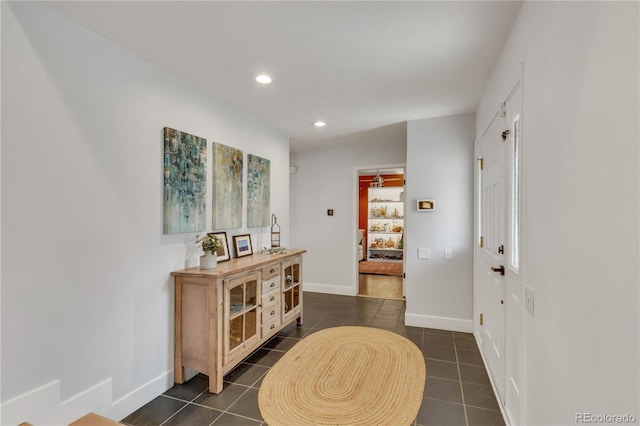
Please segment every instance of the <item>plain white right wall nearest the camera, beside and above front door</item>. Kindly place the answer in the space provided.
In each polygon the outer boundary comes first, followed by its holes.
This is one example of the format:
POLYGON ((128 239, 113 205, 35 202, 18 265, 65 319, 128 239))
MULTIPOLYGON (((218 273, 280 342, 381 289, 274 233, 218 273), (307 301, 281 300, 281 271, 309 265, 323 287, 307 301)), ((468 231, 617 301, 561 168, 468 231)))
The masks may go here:
POLYGON ((524 63, 522 424, 640 421, 638 17, 525 2, 477 113, 482 132, 524 63))

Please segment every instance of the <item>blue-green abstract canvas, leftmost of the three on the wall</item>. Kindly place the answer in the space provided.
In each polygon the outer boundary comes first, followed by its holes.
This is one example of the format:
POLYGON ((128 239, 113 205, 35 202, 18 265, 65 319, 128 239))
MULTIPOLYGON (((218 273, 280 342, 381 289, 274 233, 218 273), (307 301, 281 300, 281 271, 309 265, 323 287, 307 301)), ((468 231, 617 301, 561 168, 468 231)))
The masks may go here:
POLYGON ((164 128, 165 234, 205 229, 207 140, 164 128))

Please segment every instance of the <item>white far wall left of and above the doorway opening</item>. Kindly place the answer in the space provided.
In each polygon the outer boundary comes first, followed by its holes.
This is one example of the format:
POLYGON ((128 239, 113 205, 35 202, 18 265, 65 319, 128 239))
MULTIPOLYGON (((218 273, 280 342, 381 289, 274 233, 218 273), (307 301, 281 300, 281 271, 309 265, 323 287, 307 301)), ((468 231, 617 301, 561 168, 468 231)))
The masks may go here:
POLYGON ((291 165, 297 172, 291 175, 290 232, 292 246, 307 250, 306 290, 355 295, 358 192, 354 170, 404 164, 406 123, 355 134, 340 143, 347 146, 292 153, 291 165), (327 216, 327 209, 334 209, 334 216, 327 216))

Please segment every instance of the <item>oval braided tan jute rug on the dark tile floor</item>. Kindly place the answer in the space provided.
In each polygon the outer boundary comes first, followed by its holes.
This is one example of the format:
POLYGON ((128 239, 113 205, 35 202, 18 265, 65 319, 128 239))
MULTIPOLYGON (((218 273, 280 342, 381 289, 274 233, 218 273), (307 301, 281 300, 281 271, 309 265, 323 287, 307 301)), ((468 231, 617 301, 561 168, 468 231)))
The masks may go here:
POLYGON ((269 426, 410 425, 426 377, 410 340, 369 327, 302 339, 269 370, 258 393, 269 426))

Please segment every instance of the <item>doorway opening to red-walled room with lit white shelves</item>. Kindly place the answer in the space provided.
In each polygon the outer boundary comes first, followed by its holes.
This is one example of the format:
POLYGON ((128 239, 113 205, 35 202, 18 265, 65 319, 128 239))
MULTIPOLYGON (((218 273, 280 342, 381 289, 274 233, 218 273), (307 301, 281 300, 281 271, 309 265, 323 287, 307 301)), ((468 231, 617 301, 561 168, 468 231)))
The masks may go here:
POLYGON ((404 300, 404 168, 358 171, 358 296, 404 300))

